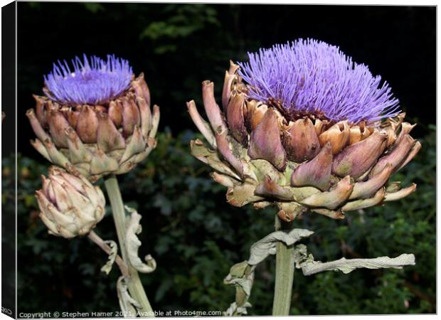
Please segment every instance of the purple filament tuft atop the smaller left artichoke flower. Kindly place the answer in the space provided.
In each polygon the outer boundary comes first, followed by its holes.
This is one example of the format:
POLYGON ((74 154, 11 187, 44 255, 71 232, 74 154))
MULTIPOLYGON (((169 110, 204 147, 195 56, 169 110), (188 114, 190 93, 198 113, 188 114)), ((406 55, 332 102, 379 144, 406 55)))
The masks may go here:
POLYGON ((44 76, 46 95, 63 105, 102 105, 127 90, 132 79, 132 67, 124 59, 107 55, 107 60, 92 55, 83 61, 75 57, 73 70, 58 60, 53 70, 44 76))

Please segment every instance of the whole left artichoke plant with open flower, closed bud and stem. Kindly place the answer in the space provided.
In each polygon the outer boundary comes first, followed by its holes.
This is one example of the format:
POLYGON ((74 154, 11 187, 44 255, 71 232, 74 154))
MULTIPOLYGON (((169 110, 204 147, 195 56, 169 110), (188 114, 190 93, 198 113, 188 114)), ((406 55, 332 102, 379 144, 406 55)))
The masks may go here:
POLYGON ((159 107, 151 112, 144 75, 134 78, 127 60, 84 55, 72 65, 73 70, 66 61, 53 65, 44 77, 45 96, 34 95, 36 108, 26 112, 37 136, 31 144, 60 167, 53 167, 49 178, 43 177, 43 188, 36 193, 40 217, 49 233, 64 238, 87 235, 102 248, 109 255, 103 272, 109 273, 117 263, 124 316, 138 311, 151 315, 138 271, 152 272, 156 262, 148 255, 145 264, 137 255, 141 216, 127 217, 116 175, 132 170, 156 146, 159 107), (103 176, 119 247, 92 230, 105 213, 105 199, 91 183, 103 176))

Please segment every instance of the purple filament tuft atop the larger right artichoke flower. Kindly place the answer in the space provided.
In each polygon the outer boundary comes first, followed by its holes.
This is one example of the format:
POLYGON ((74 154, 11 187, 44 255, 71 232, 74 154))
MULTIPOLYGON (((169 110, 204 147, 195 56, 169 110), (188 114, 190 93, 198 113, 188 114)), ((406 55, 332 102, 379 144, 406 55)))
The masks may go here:
POLYGON ((354 63, 336 46, 299 39, 248 53, 238 63, 248 96, 277 101, 287 113, 323 114, 334 120, 374 122, 400 112, 388 83, 354 63))

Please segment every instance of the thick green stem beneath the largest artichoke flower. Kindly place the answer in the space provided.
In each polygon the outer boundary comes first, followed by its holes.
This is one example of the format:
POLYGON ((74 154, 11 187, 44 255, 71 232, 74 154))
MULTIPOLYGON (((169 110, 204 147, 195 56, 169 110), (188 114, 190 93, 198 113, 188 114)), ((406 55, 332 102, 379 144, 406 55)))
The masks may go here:
MULTIPOLYGON (((276 230, 287 230, 290 224, 284 223, 276 215, 276 230)), ((292 282, 294 279, 294 245, 285 245, 282 241, 276 245, 276 276, 273 316, 288 316, 291 306, 292 282)))

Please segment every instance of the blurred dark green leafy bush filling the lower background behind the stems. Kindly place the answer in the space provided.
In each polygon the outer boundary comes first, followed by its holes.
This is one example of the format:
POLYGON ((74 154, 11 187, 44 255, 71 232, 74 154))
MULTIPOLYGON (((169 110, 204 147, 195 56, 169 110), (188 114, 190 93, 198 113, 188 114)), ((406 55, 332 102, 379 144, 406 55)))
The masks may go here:
MULTIPOLYGON (((402 201, 350 213, 345 220, 307 213, 296 227, 314 230, 304 241, 317 260, 414 253, 403 270, 356 270, 294 275, 291 314, 434 313, 435 309, 435 127, 427 129, 420 154, 392 181, 418 183, 402 201)), ((157 148, 130 174, 119 176, 124 201, 139 210, 140 255, 151 253, 158 268, 141 275, 154 309, 225 310, 233 287, 223 284, 230 266, 248 258, 253 242, 273 230, 274 208, 233 208, 225 188, 189 153, 195 134, 159 134, 157 148)), ((46 163, 18 158, 18 312, 116 311, 119 270, 100 272, 107 256, 87 238, 47 234, 38 218, 34 191, 46 163)), ((4 159, 2 186, 13 184, 14 159, 4 159)), ((102 182, 101 182, 102 183, 102 182)), ((104 186, 102 186, 104 187, 104 186)), ((4 214, 13 214, 14 195, 2 194, 4 214)), ((116 239, 110 208, 95 229, 116 239)), ((257 267, 249 309, 271 313, 274 257, 257 267)))

